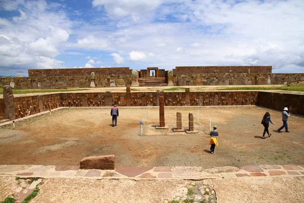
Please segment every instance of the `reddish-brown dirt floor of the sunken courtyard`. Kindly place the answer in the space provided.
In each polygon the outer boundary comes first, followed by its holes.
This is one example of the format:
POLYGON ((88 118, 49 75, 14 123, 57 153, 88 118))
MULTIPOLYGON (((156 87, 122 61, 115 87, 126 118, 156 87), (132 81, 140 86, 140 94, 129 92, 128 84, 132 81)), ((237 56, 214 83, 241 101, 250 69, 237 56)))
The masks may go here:
POLYGON ((197 109, 218 126, 215 154, 202 131, 139 136, 139 121, 147 111, 149 120, 157 121, 158 108, 119 108, 116 127, 110 108, 71 109, 17 123, 15 130, 0 128, 0 164, 79 165, 84 157, 108 154, 116 155, 117 166, 304 164, 303 117, 291 115, 290 132, 278 133, 281 112, 260 107, 166 107, 165 115, 170 120, 177 111, 197 109), (260 121, 266 111, 275 125, 270 125, 272 137, 263 140, 260 121))

